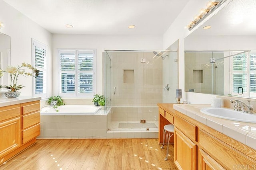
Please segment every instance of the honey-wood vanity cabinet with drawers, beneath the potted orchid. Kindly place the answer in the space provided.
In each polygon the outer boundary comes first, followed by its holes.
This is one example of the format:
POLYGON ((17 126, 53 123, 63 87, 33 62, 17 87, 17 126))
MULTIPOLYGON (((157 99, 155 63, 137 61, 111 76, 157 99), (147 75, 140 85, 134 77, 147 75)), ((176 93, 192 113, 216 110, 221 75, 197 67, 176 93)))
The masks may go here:
POLYGON ((0 107, 0 165, 36 142, 40 101, 0 107))

